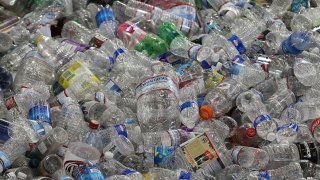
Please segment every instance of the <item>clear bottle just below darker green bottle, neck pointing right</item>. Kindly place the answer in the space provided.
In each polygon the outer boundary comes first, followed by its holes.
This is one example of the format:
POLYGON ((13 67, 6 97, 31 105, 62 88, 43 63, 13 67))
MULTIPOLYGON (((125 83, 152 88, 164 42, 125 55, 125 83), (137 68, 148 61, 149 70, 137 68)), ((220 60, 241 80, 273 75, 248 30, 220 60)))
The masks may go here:
POLYGON ((170 51, 180 57, 197 61, 208 61, 210 64, 219 60, 219 55, 208 47, 192 43, 184 37, 176 37, 170 45, 170 51))

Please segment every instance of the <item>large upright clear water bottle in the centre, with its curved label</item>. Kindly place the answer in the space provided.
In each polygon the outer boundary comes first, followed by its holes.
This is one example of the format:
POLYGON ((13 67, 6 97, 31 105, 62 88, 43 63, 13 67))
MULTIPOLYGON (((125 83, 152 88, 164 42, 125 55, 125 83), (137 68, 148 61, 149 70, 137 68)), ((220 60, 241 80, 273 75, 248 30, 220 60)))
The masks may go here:
POLYGON ((179 127, 177 82, 169 74, 145 79, 136 88, 137 115, 142 132, 179 127))

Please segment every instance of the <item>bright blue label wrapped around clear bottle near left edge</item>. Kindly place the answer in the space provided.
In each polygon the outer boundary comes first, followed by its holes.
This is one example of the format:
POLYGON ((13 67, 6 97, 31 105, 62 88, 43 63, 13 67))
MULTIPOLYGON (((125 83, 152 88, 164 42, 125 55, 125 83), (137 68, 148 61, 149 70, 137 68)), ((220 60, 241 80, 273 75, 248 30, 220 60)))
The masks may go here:
POLYGON ((50 107, 47 103, 35 105, 29 110, 29 119, 52 124, 50 107))

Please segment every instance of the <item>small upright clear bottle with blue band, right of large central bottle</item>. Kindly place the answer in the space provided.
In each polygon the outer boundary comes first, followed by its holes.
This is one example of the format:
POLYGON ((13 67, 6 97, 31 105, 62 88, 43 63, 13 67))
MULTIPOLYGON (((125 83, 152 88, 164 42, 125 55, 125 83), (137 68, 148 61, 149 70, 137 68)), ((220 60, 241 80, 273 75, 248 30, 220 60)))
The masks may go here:
POLYGON ((193 128, 199 120, 197 94, 192 85, 180 89, 180 119, 182 124, 193 128))

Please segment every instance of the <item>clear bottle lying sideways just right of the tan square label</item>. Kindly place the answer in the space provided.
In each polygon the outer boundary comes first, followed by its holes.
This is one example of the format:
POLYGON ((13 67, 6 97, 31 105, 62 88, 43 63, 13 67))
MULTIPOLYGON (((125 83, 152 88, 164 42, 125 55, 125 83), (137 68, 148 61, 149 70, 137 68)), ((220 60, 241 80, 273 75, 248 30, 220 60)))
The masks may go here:
POLYGON ((265 169, 269 163, 269 155, 259 148, 236 146, 232 149, 234 163, 249 169, 265 169))

